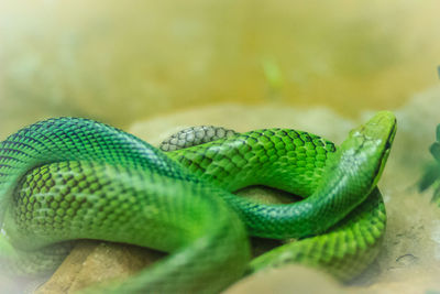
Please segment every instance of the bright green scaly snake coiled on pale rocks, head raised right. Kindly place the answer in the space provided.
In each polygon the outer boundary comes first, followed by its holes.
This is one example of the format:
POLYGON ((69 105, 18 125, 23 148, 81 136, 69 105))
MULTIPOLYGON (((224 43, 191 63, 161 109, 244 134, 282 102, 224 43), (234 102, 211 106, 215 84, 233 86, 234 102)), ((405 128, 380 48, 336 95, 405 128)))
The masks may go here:
POLYGON ((0 144, 0 271, 48 274, 73 240, 99 239, 169 254, 85 292, 218 293, 290 262, 350 280, 375 259, 385 231, 376 184, 395 132, 394 115, 381 111, 338 151, 311 133, 265 129, 165 153, 92 120, 34 123, 0 144), (256 184, 304 199, 232 194, 256 184), (249 235, 298 240, 250 261, 249 235))

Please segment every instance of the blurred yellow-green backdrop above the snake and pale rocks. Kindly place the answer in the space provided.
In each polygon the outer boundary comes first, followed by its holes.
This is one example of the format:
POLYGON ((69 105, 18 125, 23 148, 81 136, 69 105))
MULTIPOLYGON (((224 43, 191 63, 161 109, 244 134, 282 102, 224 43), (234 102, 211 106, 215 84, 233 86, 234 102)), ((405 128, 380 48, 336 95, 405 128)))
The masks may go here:
POLYGON ((0 1, 0 139, 223 102, 354 118, 439 84, 440 2, 0 1))

